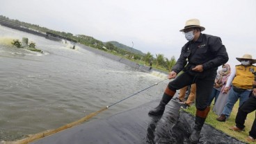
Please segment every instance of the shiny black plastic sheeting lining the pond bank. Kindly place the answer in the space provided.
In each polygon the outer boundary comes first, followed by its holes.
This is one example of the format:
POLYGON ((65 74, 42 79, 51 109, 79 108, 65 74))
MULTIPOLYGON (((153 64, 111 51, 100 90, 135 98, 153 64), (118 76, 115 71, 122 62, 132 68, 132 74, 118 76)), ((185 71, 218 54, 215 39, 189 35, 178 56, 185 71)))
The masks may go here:
MULTIPOLYGON (((194 116, 180 111, 180 104, 170 101, 163 116, 149 116, 148 111, 159 104, 159 100, 148 102, 134 109, 115 114, 106 119, 66 129, 63 132, 41 138, 33 144, 186 144, 194 125, 194 116)), ((111 107, 111 109, 118 106, 111 107)), ((209 125, 202 127, 199 143, 243 143, 223 134, 209 125)))

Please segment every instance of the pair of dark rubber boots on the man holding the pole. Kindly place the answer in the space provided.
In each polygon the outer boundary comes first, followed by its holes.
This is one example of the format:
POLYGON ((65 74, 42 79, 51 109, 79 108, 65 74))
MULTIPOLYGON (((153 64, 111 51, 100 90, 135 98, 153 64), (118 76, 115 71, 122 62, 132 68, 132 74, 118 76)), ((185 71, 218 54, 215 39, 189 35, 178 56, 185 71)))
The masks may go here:
MULTIPOLYGON (((163 94, 163 98, 161 99, 159 105, 156 108, 150 110, 148 114, 154 115, 154 116, 162 115, 164 109, 166 109, 166 105, 172 98, 173 97, 171 96, 163 94)), ((191 143, 198 143, 200 138, 200 132, 201 132, 202 126, 205 123, 205 119, 206 118, 200 118, 199 116, 195 116, 195 126, 193 128, 191 136, 189 137, 189 140, 191 141, 191 143)))

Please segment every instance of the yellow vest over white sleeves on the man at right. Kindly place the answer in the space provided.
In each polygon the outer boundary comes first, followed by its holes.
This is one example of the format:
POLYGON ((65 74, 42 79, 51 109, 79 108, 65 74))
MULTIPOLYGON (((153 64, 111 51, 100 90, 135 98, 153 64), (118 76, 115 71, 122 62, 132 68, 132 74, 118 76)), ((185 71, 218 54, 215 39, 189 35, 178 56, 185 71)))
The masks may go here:
POLYGON ((236 75, 232 84, 234 87, 241 89, 253 89, 254 75, 253 72, 256 71, 256 66, 236 66, 236 75))

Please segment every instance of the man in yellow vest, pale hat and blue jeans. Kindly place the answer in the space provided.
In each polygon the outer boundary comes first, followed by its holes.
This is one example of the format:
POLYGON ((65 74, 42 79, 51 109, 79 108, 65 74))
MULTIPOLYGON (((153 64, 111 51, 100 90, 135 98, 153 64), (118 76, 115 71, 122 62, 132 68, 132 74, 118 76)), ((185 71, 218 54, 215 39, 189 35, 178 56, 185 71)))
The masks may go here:
POLYGON ((254 74, 256 71, 256 60, 253 59, 252 55, 245 54, 243 57, 237 57, 237 60, 241 64, 237 65, 232 69, 230 77, 227 79, 227 84, 225 86, 224 92, 230 90, 230 94, 227 99, 227 103, 223 109, 221 116, 216 118, 216 120, 225 122, 229 118, 230 113, 234 107, 234 104, 239 99, 239 107, 248 100, 250 91, 253 89, 254 74), (232 88, 230 85, 232 83, 232 88))

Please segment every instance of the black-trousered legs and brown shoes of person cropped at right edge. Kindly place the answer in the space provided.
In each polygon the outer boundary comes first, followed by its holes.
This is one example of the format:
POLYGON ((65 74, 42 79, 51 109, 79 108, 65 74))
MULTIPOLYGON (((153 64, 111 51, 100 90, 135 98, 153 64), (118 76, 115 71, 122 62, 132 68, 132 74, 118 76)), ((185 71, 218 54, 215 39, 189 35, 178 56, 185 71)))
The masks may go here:
MULTIPOLYGON (((256 84, 256 82, 255 82, 256 84)), ((241 132, 244 131, 244 123, 246 122, 246 116, 256 110, 256 89, 253 89, 252 96, 246 102, 239 107, 236 116, 236 125, 230 127, 231 130, 241 132)), ((255 112, 256 114, 256 112, 255 112)), ((254 119, 253 125, 250 129, 249 136, 246 138, 248 142, 255 142, 256 141, 256 119, 254 119)))

